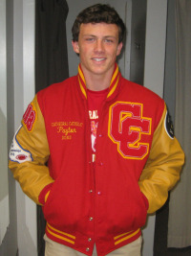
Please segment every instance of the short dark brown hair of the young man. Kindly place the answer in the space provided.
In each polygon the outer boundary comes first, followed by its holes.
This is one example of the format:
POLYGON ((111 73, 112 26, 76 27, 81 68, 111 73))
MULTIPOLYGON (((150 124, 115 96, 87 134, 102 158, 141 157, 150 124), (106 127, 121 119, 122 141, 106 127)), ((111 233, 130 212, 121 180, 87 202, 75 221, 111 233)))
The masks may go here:
POLYGON ((77 15, 72 28, 73 41, 78 41, 80 25, 82 23, 116 24, 118 27, 118 43, 123 41, 126 32, 125 25, 117 11, 109 5, 96 4, 88 7, 77 15))

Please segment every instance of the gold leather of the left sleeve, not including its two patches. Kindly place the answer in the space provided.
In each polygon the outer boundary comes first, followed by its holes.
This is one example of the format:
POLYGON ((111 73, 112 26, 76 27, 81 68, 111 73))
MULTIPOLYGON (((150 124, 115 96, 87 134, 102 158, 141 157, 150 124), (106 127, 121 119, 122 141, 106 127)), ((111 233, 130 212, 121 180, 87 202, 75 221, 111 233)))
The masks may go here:
POLYGON ((50 151, 44 119, 36 96, 32 101, 32 108, 35 113, 32 129, 29 130, 22 120, 22 127, 18 130, 14 142, 17 145, 22 145, 24 151, 29 151, 32 154, 32 160, 26 160, 20 164, 10 160, 9 167, 24 193, 34 202, 40 204, 38 196, 45 186, 53 182, 53 178, 46 166, 50 151))

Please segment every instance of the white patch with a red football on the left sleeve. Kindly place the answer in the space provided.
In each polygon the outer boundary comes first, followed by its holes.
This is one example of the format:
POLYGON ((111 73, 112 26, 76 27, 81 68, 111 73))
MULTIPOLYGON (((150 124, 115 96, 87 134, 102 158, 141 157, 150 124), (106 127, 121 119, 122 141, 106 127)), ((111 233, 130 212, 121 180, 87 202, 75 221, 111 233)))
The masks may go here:
POLYGON ((11 150, 10 150, 11 161, 18 162, 19 164, 24 163, 26 161, 33 160, 32 153, 30 151, 25 151, 16 139, 16 135, 19 132, 20 128, 22 128, 22 126, 20 126, 16 131, 11 143, 11 150))

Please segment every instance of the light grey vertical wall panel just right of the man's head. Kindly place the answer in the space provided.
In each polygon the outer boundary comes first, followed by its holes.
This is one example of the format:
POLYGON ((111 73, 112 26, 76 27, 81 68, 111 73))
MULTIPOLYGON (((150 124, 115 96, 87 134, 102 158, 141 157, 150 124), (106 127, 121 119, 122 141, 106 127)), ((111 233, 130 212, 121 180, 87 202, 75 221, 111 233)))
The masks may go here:
MULTIPOLYGON (((163 96, 167 0, 147 0, 144 86, 163 96)), ((143 255, 153 255, 155 215, 143 230, 143 255)))

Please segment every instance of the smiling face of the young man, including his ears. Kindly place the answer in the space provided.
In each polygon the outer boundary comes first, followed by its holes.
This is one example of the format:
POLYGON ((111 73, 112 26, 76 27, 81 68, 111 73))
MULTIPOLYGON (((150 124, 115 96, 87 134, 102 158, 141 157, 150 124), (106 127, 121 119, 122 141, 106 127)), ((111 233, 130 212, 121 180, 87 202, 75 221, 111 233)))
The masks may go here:
POLYGON ((116 24, 81 24, 78 42, 73 42, 74 52, 79 54, 85 77, 112 75, 122 43, 118 44, 116 24))

